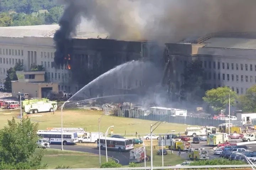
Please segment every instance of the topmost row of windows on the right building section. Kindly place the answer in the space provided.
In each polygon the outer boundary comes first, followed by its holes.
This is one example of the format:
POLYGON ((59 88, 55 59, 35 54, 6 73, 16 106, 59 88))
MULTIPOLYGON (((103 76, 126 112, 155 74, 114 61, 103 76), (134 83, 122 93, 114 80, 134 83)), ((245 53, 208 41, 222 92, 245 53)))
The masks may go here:
MULTIPOLYGON (((213 65, 213 68, 216 69, 216 62, 211 62, 209 61, 208 64, 207 64, 207 61, 204 61, 204 68, 212 68, 212 65, 213 65)), ((240 70, 244 70, 245 68, 245 71, 256 71, 256 64, 254 64, 254 68, 253 68, 253 64, 238 64, 238 63, 222 63, 222 69, 231 69, 231 70, 239 70, 239 67, 240 67, 240 70), (231 67, 231 68, 230 68, 231 67)), ((217 68, 220 69, 220 62, 217 63, 217 68)))

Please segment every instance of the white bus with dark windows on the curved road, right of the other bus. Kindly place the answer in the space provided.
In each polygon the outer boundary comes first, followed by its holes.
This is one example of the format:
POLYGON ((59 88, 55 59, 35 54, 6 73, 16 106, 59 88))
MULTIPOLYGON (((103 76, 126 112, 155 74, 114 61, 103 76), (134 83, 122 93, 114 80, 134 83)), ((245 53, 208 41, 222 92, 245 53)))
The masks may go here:
MULTIPOLYGON (((106 140, 107 140, 107 148, 118 149, 119 152, 129 151, 133 149, 132 139, 106 137, 106 140)), ((97 139, 97 147, 99 147, 98 139, 97 139)), ((101 149, 106 148, 105 137, 100 138, 100 148, 101 149)))

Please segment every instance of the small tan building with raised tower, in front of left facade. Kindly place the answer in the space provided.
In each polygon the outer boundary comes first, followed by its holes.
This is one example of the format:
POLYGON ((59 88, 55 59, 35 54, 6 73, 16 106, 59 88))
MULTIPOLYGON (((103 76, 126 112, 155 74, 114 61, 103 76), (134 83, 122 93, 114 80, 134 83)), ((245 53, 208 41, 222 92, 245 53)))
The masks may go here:
POLYGON ((17 71, 18 80, 12 81, 12 97, 18 92, 28 93, 29 97, 46 98, 49 92, 58 91, 59 83, 47 82, 43 71, 17 71))

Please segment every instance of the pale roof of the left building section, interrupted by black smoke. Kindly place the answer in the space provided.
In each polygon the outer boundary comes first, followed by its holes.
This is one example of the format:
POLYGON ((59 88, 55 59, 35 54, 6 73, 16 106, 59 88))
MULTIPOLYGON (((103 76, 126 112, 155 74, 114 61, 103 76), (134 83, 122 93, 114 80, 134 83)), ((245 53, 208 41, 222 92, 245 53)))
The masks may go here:
MULTIPOLYGON (((24 36, 45 36, 53 37, 54 33, 59 29, 58 24, 38 25, 38 26, 17 26, 17 27, 0 27, 0 37, 23 38, 24 36)), ((86 32, 85 30, 77 30, 75 38, 102 38, 108 37, 107 33, 86 32)))

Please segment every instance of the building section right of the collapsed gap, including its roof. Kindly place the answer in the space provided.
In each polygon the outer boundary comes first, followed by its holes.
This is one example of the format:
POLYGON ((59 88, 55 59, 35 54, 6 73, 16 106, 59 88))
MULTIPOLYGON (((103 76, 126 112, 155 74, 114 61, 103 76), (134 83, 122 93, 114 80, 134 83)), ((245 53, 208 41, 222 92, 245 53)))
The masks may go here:
POLYGON ((167 43, 163 83, 173 99, 180 96, 185 68, 198 60, 209 88, 228 86, 237 94, 256 83, 256 34, 215 33, 180 43, 167 43))

